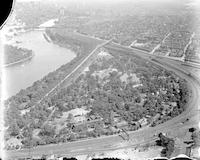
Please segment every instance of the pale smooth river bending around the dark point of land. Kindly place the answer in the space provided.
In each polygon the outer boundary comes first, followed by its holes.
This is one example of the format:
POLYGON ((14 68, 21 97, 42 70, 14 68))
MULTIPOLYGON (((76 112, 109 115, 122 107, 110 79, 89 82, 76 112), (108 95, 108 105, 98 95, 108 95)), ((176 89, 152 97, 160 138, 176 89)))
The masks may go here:
POLYGON ((21 43, 13 45, 33 50, 34 57, 22 64, 4 68, 6 75, 5 99, 15 95, 21 89, 31 86, 33 82, 75 58, 74 52, 47 42, 43 33, 44 31, 34 30, 20 33, 14 37, 14 41, 21 43))

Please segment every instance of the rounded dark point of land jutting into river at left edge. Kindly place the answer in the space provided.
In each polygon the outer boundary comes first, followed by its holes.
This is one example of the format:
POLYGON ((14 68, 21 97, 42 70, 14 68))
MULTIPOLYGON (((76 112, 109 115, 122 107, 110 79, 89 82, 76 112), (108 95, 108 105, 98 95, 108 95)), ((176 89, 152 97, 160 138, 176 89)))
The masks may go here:
POLYGON ((5 63, 2 65, 3 67, 9 67, 16 64, 20 64, 32 59, 34 53, 32 50, 28 50, 25 48, 18 48, 12 45, 5 45, 4 57, 5 63))

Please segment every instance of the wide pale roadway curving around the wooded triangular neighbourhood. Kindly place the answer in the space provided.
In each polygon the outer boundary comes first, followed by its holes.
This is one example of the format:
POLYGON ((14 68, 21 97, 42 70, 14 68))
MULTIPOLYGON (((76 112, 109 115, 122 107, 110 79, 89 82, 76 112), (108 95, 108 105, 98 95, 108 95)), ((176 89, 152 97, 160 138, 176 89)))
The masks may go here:
POLYGON ((157 65, 163 66, 168 70, 174 71, 177 75, 186 79, 192 90, 192 95, 188 102, 188 107, 186 111, 181 115, 173 118, 172 120, 169 120, 156 127, 150 127, 129 132, 130 141, 124 141, 120 136, 113 135, 78 142, 39 146, 30 150, 24 149, 19 151, 8 151, 8 157, 12 159, 13 157, 29 157, 30 155, 39 156, 43 154, 59 154, 74 156, 144 144, 154 140, 155 133, 169 131, 175 132, 177 128, 180 129, 185 127, 185 125, 182 125, 181 122, 184 121, 186 118, 194 117, 199 113, 196 111, 198 110, 198 104, 200 104, 200 80, 195 75, 190 76, 188 74, 189 72, 186 70, 187 66, 183 67, 181 65, 182 62, 162 58, 155 55, 149 55, 145 51, 140 51, 138 49, 129 49, 127 47, 122 47, 116 44, 108 44, 105 46, 105 48, 109 52, 113 53, 123 52, 123 54, 129 54, 130 56, 141 56, 144 59, 156 63, 157 65))

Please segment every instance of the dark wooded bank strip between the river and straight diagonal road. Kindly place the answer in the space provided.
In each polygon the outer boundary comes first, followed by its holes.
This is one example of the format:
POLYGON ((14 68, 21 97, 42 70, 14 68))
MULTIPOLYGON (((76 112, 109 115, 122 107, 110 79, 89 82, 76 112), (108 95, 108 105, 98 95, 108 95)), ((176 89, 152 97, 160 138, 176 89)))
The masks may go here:
MULTIPOLYGON (((73 34, 73 33, 72 33, 73 34)), ((27 97, 29 94, 32 94, 30 98, 28 98, 24 103, 26 105, 18 104, 20 109, 25 109, 33 106, 38 100, 40 100, 46 93, 48 93, 56 84, 58 84, 64 77, 66 77, 71 70, 73 70, 79 63, 88 56, 88 54, 96 47, 99 41, 95 41, 92 39, 91 41, 84 41, 84 39, 78 39, 77 41, 69 34, 68 36, 63 34, 47 34, 47 36, 51 39, 51 43, 48 44, 55 44, 57 46, 62 46, 63 48, 67 48, 76 54, 71 61, 66 61, 65 64, 58 67, 57 69, 49 72, 41 79, 34 81, 34 83, 26 88, 21 89, 17 94, 7 99, 7 101, 15 101, 15 97, 27 97), (70 43, 71 39, 73 39, 73 44, 70 43), (69 44, 70 43, 70 44, 69 44), (22 107, 23 106, 23 107, 22 107), (22 108, 21 108, 22 107, 22 108)), ((41 34, 43 37, 44 35, 41 34)), ((37 57, 35 58, 37 59, 37 57)), ((55 57, 54 57, 55 59, 55 57)), ((35 61, 35 60, 34 60, 35 61)), ((28 66, 27 66, 28 67, 28 66)), ((27 68, 26 67, 26 68, 27 68)), ((24 68, 24 69, 26 69, 24 68)), ((19 71, 21 72, 21 69, 19 71)), ((37 71, 38 72, 38 71, 37 71)), ((12 74, 13 75, 13 74, 12 74)), ((14 77, 16 78, 16 77, 14 77)), ((15 102, 14 102, 15 103, 15 102)), ((18 102, 17 102, 18 103, 18 102)))

